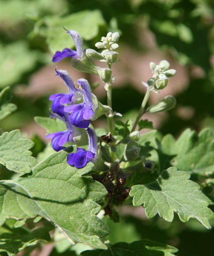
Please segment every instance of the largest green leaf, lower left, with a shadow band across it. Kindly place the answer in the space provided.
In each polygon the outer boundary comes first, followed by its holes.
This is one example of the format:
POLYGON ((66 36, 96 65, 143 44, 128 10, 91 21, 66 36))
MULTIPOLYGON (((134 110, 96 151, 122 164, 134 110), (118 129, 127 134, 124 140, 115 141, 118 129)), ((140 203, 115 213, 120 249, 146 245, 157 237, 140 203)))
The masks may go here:
POLYGON ((94 168, 92 163, 76 169, 67 164, 67 154, 59 151, 35 166, 29 175, 1 181, 0 222, 8 217, 22 219, 40 215, 71 242, 106 248, 99 237, 105 237, 109 228, 96 216, 101 207, 94 201, 100 200, 107 191, 92 177, 81 176, 94 168))

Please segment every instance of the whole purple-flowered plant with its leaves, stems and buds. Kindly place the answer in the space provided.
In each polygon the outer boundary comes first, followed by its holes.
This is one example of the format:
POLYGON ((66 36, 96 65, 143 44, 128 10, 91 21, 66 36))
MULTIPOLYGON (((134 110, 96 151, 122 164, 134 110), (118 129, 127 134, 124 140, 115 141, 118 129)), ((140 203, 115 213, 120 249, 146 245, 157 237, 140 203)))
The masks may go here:
MULTIPOLYGON (((171 95, 147 105, 150 94, 164 90, 176 75, 167 60, 150 62, 151 78, 142 82, 146 94, 139 111, 133 122, 124 120, 112 105, 116 79, 112 65, 120 64, 119 33, 109 32, 95 44, 96 49, 83 49, 78 32, 65 32, 75 42, 75 50, 56 51, 53 62, 69 57, 71 68, 98 75, 107 105, 93 94, 94 85, 83 78, 73 81, 67 70, 56 66, 68 93, 50 95, 50 118, 35 117, 47 129, 51 144, 36 159, 29 151, 33 142, 19 130, 1 133, 0 163, 16 174, 0 181, 0 251, 12 256, 38 240, 57 243, 61 239, 64 250, 78 253, 72 248, 80 245, 83 256, 175 255, 175 247, 158 241, 111 245, 105 238, 111 232, 105 219, 119 222, 120 206, 133 204, 143 206, 148 218, 159 215, 172 222, 178 215, 181 222, 194 218, 210 229, 214 213, 203 188, 212 180, 207 176, 213 161, 212 133, 204 129, 197 135, 187 129, 177 140, 170 134, 161 138, 152 122, 143 118, 145 113, 168 111, 176 105, 171 95), (106 67, 100 68, 99 61, 106 67), (93 121, 101 116, 106 117, 107 127, 95 129, 93 121), (151 131, 142 133, 145 128, 151 131), (206 179, 199 181, 197 175, 206 179), (30 230, 38 221, 43 225, 30 230)), ((0 94, 0 118, 15 110, 10 99, 6 87, 0 94)), ((121 95, 121 104, 125 103, 121 95)))

